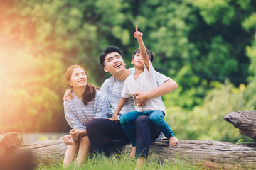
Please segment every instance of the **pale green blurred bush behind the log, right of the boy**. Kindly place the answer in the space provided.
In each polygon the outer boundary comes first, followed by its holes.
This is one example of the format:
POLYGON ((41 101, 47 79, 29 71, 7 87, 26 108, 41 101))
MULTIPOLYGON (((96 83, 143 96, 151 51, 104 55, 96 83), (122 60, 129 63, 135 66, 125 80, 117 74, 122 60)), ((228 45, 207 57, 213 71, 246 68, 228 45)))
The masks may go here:
POLYGON ((224 115, 232 111, 247 110, 244 91, 244 85, 238 89, 230 81, 225 81, 225 84, 208 93, 203 106, 196 106, 193 111, 168 107, 165 119, 180 140, 236 142, 245 138, 249 141, 249 137, 240 135, 238 129, 223 120, 224 115))

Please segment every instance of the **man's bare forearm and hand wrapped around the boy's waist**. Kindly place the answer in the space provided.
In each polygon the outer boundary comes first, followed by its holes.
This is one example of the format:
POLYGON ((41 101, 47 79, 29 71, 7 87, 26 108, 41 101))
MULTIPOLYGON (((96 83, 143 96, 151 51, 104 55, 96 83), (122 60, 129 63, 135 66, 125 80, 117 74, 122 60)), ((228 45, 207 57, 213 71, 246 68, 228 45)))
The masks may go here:
POLYGON ((177 88, 178 84, 176 84, 173 79, 169 79, 156 89, 147 92, 137 92, 135 94, 136 101, 140 107, 143 107, 150 98, 164 96, 165 94, 169 94, 171 91, 174 91, 177 88))

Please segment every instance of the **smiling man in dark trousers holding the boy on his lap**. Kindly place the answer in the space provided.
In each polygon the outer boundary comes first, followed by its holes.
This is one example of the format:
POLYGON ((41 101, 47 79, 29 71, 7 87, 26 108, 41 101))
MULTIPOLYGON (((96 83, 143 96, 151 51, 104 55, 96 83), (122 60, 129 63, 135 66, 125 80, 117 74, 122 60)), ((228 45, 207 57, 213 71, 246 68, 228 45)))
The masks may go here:
MULTIPOLYGON (((114 110, 121 98, 122 87, 124 80, 129 74, 134 73, 134 69, 126 69, 121 52, 117 47, 107 47, 100 55, 100 64, 105 72, 112 74, 112 77, 105 80, 102 84, 101 91, 107 96, 107 100, 114 110)), ((135 94, 137 103, 143 107, 149 98, 156 98, 163 96, 178 88, 176 82, 169 77, 156 72, 156 79, 158 88, 148 91, 146 93, 138 92, 135 94)), ((133 98, 128 98, 119 115, 134 111, 133 98)), ((139 116, 135 122, 135 129, 137 130, 137 145, 136 152, 141 155, 137 159, 137 168, 141 167, 149 152, 149 144, 151 140, 155 140, 160 135, 159 127, 153 125, 147 116, 139 116)), ((87 123, 87 134, 91 143, 92 149, 97 152, 108 155, 107 145, 103 137, 109 137, 116 140, 127 140, 128 137, 122 129, 119 121, 115 122, 109 119, 94 119, 87 123)))

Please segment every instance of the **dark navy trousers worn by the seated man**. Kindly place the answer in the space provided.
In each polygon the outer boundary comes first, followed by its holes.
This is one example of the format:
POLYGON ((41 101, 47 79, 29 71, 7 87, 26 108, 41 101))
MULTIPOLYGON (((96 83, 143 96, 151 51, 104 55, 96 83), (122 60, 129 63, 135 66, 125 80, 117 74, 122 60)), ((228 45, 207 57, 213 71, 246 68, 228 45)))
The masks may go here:
MULTIPOLYGON (((146 115, 139 116, 135 120, 134 128, 137 134, 136 157, 145 157, 149 154, 149 145, 151 140, 156 140, 160 135, 160 128, 151 123, 146 115)), ((103 137, 109 137, 116 140, 129 141, 122 125, 109 119, 92 119, 86 124, 87 135, 90 140, 91 148, 99 153, 109 156, 103 137)))

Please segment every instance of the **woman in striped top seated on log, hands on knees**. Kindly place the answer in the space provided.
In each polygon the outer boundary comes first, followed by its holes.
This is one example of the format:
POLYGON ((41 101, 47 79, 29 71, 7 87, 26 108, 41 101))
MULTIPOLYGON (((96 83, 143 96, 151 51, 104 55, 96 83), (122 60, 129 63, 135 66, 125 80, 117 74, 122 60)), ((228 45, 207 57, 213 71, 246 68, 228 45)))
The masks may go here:
POLYGON ((70 135, 62 137, 68 145, 63 160, 63 167, 67 167, 77 156, 77 163, 81 165, 90 150, 90 141, 86 132, 86 123, 93 118, 108 118, 111 108, 100 88, 88 83, 85 69, 73 65, 65 73, 68 85, 73 89, 74 99, 64 101, 65 118, 72 128, 70 135))

